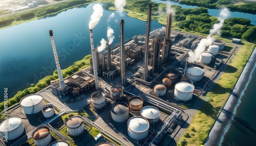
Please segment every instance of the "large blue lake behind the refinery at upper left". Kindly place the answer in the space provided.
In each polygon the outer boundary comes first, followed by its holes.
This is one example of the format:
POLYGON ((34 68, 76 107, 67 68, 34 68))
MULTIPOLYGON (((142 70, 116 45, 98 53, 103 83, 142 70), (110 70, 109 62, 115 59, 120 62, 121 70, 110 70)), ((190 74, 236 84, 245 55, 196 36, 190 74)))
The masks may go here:
MULTIPOLYGON (((56 65, 49 30, 53 30, 62 69, 91 54, 88 24, 93 12, 92 6, 93 4, 72 8, 57 15, 0 30, 1 94, 4 94, 2 89, 7 87, 11 98, 17 91, 52 75, 56 65)), ((93 29, 95 47, 100 45, 101 38, 108 39, 106 37, 108 26, 115 32, 114 42, 110 46, 119 45, 121 19, 125 21, 124 41, 130 40, 135 35, 145 34, 146 22, 128 17, 126 13, 120 16, 117 12, 104 10, 98 25, 93 29), (115 17, 107 22, 111 13, 115 13, 115 17)), ((157 21, 152 21, 152 29, 162 26, 157 21)))

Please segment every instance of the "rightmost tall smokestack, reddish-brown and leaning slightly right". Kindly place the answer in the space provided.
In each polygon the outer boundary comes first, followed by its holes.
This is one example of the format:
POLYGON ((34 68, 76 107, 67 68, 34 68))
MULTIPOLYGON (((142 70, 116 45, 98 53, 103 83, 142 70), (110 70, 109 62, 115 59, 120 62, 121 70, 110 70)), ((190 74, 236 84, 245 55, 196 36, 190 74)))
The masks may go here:
POLYGON ((172 14, 168 14, 167 18, 167 25, 166 25, 166 32, 165 32, 165 41, 163 46, 163 55, 162 55, 162 62, 165 62, 169 59, 170 56, 170 46, 172 44, 170 40, 170 30, 172 29, 172 14))

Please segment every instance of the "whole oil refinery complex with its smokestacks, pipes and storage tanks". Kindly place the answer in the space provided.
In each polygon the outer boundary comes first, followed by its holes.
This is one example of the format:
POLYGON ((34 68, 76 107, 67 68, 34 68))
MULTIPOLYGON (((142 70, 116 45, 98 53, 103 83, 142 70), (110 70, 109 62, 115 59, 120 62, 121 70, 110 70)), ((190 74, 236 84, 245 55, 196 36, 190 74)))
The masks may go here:
POLYGON ((34 145, 44 146, 159 145, 165 136, 167 145, 177 142, 191 121, 180 105, 193 105, 206 92, 235 47, 227 52, 225 42, 215 40, 197 62, 189 62, 189 52, 205 37, 172 31, 172 14, 166 27, 151 31, 151 7, 145 35, 124 42, 122 19, 120 46, 108 43, 105 52, 97 51, 90 28, 91 66, 67 78, 62 77, 50 30, 59 79, 9 110, 9 142, 3 140, 2 121, 2 143, 28 145, 33 139, 34 145), (97 136, 91 135, 93 129, 97 136))

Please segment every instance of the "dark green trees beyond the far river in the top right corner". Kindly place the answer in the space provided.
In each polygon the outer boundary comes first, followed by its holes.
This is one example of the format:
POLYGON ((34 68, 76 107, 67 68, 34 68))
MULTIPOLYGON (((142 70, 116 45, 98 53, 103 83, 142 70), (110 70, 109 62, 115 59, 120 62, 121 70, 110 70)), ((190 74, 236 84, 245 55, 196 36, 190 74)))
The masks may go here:
POLYGON ((232 2, 229 0, 175 0, 180 4, 197 5, 211 9, 219 9, 222 6, 229 8, 231 11, 256 14, 256 3, 253 2, 232 2))

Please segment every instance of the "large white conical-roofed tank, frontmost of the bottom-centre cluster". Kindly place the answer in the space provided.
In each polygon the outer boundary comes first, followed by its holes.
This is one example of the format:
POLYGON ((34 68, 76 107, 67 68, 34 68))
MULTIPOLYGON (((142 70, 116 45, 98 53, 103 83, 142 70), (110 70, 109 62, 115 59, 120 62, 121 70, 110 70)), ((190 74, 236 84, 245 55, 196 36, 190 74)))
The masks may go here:
POLYGON ((133 116, 127 121, 128 135, 134 140, 143 140, 148 135, 150 124, 141 116, 133 116))

